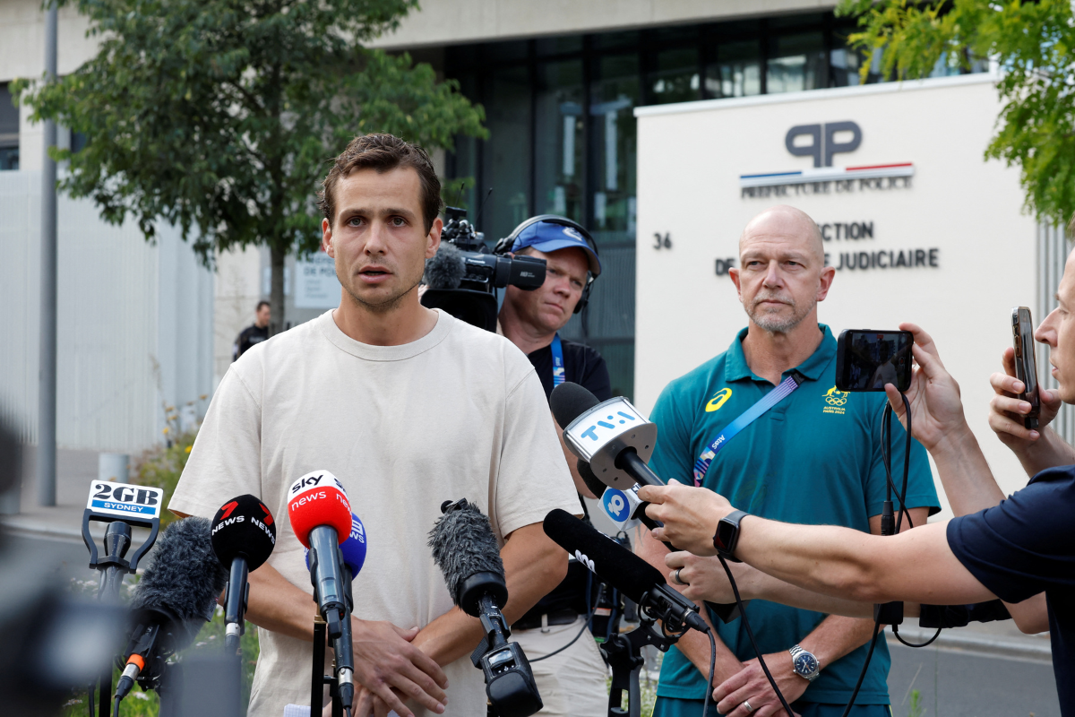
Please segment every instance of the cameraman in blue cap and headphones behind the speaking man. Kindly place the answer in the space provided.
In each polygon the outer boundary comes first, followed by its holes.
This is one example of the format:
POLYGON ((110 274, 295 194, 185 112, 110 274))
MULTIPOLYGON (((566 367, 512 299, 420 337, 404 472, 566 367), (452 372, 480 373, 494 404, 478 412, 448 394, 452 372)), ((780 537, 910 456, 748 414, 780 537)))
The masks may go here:
MULTIPOLYGON (((545 283, 533 291, 516 286, 504 290, 500 330, 527 355, 548 398, 553 388, 570 381, 587 388, 599 400, 612 398, 608 369, 589 346, 560 339, 557 332, 572 315, 585 307, 589 288, 601 273, 597 245, 583 227, 551 215, 527 219, 498 247, 513 256, 545 259, 545 283)), ((555 420, 555 419, 554 419, 555 420)), ((563 443, 562 431, 557 430, 563 443)), ((575 457, 564 456, 582 496, 593 496, 578 475, 575 457)), ((579 498, 579 503, 583 503, 579 498)), ((583 503, 582 512, 586 512, 583 503)), ((533 660, 563 648, 555 656, 531 664, 545 703, 541 715, 602 717, 608 709, 605 687, 607 670, 584 626, 597 584, 582 563, 572 561, 568 576, 512 626, 512 635, 533 660), (582 633, 582 634, 579 634, 582 633)))

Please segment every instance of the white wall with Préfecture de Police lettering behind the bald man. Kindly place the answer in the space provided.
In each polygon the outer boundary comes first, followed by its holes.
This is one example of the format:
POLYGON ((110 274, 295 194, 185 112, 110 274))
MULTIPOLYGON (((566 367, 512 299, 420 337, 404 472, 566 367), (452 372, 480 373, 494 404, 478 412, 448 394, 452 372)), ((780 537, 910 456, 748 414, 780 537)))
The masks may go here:
POLYGON ((851 248, 940 249, 935 269, 837 271, 820 319, 834 333, 900 321, 931 332, 1001 487, 1024 485, 1018 462, 986 422, 988 378, 1012 345, 1010 309, 1033 307, 1036 298, 1035 224, 1021 213, 1018 172, 983 159, 999 111, 990 75, 635 110, 640 408, 651 410, 670 379, 725 350, 746 326, 734 285, 716 275, 715 259, 737 257, 746 223, 788 203, 819 224, 874 223, 872 240, 827 243, 833 264, 851 248), (811 158, 785 148, 792 126, 842 120, 861 127, 862 142, 836 155, 835 166, 914 162, 912 187, 741 196, 742 174, 812 167, 811 158), (655 232, 669 232, 672 248, 653 248, 655 232))

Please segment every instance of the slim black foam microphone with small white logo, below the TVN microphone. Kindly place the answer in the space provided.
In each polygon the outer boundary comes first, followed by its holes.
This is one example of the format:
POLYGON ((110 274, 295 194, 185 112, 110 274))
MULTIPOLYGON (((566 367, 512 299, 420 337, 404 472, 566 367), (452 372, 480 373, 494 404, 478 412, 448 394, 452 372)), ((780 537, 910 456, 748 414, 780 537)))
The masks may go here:
POLYGON ((669 587, 660 571, 607 535, 559 508, 545 516, 545 534, 603 582, 663 620, 670 632, 708 632, 698 605, 669 587))

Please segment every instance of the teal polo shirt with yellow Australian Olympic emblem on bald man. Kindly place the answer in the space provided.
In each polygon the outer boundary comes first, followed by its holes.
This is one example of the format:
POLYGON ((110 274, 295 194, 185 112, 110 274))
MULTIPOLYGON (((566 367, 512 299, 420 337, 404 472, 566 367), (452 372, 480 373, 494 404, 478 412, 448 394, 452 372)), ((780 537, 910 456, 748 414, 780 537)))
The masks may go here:
MULTIPOLYGON (((869 532, 870 516, 879 515, 885 501, 880 438, 886 399, 884 393, 836 390, 836 340, 829 327, 819 328, 825 332, 820 345, 796 368, 806 379, 729 440, 713 459, 703 485, 754 515, 869 532)), ((658 428, 650 460, 657 475, 691 484, 694 460, 706 445, 773 390, 773 384, 756 376, 746 363, 742 343, 746 332, 743 329, 727 352, 676 378, 661 392, 650 415, 658 428)), ((892 477, 898 486, 903 476, 905 436, 893 416, 892 477)), ((926 450, 917 441, 911 454, 907 505, 929 506, 931 513, 940 510, 926 450)), ((764 600, 752 601, 746 614, 762 654, 789 649, 826 617, 764 600)), ((725 625, 711 617, 720 640, 740 660, 756 657, 743 620, 725 625)), ((832 664, 821 664, 821 675, 802 699, 846 703, 866 649, 863 645, 832 664)), ((885 640, 878 637, 858 704, 888 704, 889 663, 885 640)), ((673 647, 664 656, 657 694, 701 700, 705 677, 673 647)))

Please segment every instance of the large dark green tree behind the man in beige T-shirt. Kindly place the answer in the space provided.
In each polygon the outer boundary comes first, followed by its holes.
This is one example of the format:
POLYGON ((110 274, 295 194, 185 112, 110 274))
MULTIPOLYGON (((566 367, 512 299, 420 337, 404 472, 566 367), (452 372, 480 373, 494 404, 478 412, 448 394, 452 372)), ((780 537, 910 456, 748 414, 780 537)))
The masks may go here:
POLYGON ((71 0, 97 55, 58 82, 13 85, 44 118, 87 138, 61 189, 101 216, 163 219, 206 266, 214 249, 264 244, 272 313, 284 318, 284 257, 315 249, 326 160, 356 134, 452 148, 484 137, 484 111, 428 64, 363 43, 417 0, 71 0))

